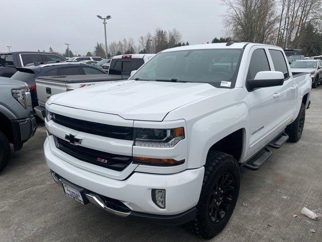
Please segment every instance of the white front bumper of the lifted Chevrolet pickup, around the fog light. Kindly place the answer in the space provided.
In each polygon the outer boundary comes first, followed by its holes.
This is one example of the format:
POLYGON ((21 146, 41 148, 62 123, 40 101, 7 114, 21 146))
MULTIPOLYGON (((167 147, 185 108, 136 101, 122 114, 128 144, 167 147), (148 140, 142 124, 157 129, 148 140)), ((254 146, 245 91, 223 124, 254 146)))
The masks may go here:
POLYGON ((44 143, 46 163, 49 168, 70 183, 85 188, 94 194, 116 199, 131 209, 131 214, 146 213, 148 216, 157 215, 177 216, 194 208, 199 200, 204 167, 184 170, 174 174, 150 174, 133 172, 124 180, 112 179, 76 167, 54 155, 47 137, 44 143), (157 207, 152 201, 152 189, 166 190, 166 208, 157 207))

